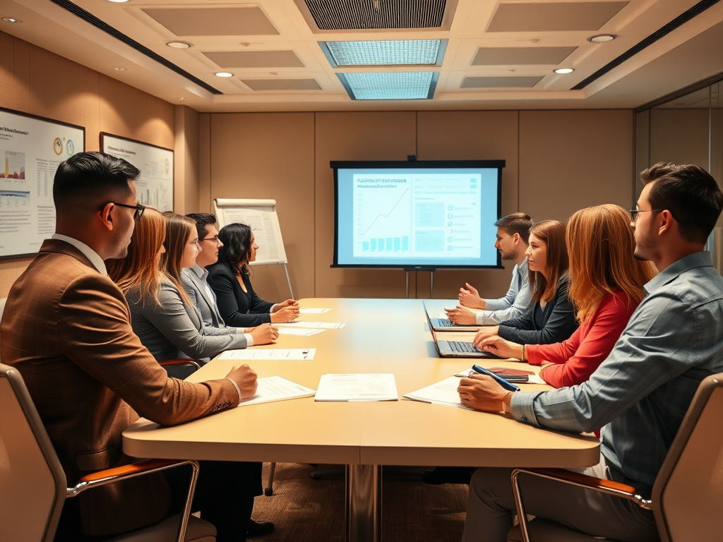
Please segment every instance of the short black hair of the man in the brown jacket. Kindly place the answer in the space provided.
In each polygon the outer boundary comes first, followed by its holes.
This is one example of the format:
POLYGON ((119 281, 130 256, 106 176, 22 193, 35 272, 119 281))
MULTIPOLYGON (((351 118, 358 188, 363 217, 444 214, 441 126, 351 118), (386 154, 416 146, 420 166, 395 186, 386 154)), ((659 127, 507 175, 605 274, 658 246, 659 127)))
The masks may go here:
POLYGON ((122 158, 103 152, 78 152, 58 166, 53 181, 56 209, 78 199, 95 203, 95 199, 127 197, 128 181, 135 181, 140 170, 122 158))

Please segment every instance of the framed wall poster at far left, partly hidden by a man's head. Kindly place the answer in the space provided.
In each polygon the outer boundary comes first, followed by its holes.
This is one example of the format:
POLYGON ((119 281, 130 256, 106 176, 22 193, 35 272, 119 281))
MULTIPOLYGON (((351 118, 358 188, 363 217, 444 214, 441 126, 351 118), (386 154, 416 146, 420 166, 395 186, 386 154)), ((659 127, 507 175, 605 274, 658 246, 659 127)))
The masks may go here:
POLYGON ((83 150, 83 126, 0 108, 0 257, 35 254, 55 233, 55 172, 83 150))

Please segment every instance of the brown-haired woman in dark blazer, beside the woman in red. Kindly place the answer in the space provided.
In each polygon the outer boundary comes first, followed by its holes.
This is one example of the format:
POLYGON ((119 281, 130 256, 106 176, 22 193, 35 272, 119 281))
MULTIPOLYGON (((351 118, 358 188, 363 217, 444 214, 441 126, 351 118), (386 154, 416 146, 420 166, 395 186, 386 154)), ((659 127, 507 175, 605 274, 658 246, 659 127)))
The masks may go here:
POLYGON ((523 345, 562 343, 578 329, 575 311, 568 299, 568 251, 565 225, 543 220, 530 228, 527 249, 530 288, 534 305, 521 317, 499 326, 480 328, 474 345, 492 335, 523 345))

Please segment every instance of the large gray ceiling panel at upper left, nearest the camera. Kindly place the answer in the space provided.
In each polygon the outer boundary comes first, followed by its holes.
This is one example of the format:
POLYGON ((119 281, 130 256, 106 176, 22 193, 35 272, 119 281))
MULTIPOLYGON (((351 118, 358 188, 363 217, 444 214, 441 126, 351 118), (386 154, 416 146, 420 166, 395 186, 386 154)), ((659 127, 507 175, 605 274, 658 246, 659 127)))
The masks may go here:
POLYGON ((143 9, 177 36, 278 35, 257 7, 202 9, 143 9))

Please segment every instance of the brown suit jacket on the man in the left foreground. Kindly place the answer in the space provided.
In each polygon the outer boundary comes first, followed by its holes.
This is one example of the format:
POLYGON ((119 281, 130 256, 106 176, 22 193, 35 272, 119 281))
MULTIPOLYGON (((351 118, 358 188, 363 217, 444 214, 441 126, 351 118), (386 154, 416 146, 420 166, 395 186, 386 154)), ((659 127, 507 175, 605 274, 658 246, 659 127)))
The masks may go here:
MULTIPOLYGON (((0 359, 16 367, 50 435, 68 483, 128 463, 121 432, 140 416, 172 425, 239 403, 234 384, 169 378, 134 335, 126 300, 74 246, 46 240, 12 286, 0 359)), ((161 476, 81 494, 85 534, 158 521, 168 509, 161 476)))

